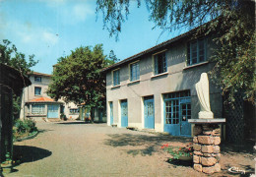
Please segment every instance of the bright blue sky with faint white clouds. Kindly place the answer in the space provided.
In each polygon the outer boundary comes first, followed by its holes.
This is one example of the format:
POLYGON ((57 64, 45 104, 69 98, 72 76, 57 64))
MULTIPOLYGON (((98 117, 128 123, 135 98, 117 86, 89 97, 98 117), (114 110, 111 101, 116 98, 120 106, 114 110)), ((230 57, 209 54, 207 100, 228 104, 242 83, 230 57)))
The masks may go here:
POLYGON ((52 74, 57 59, 80 46, 102 43, 105 55, 113 50, 123 60, 185 31, 153 29, 145 3, 137 8, 136 2, 116 41, 100 13, 96 20, 96 0, 0 0, 0 40, 10 40, 28 59, 34 54, 33 71, 52 74))

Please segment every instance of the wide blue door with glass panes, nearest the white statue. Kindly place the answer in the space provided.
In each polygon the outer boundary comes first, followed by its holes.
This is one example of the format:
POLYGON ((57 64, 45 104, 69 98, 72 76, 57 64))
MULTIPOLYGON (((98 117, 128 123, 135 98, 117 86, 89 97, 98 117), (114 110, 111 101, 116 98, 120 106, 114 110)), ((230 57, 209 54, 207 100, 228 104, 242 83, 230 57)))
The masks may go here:
POLYGON ((191 118, 190 92, 180 91, 164 94, 164 132, 172 136, 191 136, 191 125, 188 119, 191 118))

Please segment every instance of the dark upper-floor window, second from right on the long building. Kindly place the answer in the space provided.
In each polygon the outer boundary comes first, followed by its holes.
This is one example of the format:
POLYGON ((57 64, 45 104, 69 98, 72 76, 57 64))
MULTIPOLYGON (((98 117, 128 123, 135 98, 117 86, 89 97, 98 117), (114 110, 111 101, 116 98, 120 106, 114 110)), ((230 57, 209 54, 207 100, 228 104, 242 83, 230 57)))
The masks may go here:
POLYGON ((165 52, 154 56, 155 75, 167 72, 165 52))

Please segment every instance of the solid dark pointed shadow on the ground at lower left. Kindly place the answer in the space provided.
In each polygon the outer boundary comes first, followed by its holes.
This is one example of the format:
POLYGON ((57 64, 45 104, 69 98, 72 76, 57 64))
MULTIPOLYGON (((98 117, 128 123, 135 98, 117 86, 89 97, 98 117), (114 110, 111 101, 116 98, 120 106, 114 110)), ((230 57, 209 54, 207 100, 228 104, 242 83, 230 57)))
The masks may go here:
POLYGON ((14 146, 14 160, 20 160, 21 163, 28 163, 46 158, 52 154, 51 151, 44 148, 14 146))

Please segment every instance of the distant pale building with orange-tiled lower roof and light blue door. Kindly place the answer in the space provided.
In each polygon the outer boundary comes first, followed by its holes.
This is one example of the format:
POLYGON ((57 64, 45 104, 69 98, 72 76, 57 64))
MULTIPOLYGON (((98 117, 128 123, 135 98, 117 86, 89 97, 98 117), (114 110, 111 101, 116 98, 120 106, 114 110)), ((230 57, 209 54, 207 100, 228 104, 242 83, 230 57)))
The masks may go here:
POLYGON ((73 102, 55 101, 46 94, 51 75, 33 72, 29 78, 32 85, 24 89, 21 119, 60 119, 64 118, 64 115, 68 119, 79 117, 79 109, 73 102))

